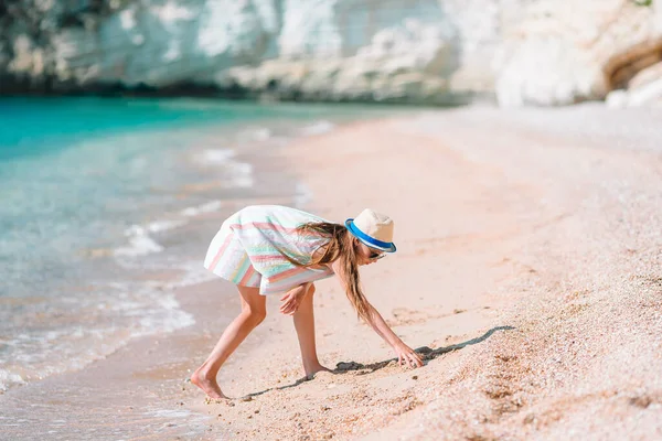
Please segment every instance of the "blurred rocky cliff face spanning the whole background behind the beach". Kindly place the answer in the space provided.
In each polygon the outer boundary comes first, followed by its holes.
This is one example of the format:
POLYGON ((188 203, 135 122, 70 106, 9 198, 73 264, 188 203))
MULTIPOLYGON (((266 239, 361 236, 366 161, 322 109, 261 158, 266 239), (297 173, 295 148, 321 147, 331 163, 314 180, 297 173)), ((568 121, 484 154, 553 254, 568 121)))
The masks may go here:
POLYGON ((640 105, 662 96, 641 1, 0 0, 0 92, 640 105))

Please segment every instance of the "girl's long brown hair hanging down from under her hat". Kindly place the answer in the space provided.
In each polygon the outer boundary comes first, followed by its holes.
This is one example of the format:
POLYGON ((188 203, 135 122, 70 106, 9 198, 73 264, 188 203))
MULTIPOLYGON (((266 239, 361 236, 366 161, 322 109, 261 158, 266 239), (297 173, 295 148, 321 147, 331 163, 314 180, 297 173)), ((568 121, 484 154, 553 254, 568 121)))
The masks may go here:
POLYGON ((344 282, 345 293, 359 316, 370 322, 367 300, 361 289, 361 278, 359 276, 359 255, 354 238, 348 234, 348 228, 341 224, 330 222, 311 222, 297 227, 297 233, 305 235, 321 236, 328 239, 324 245, 324 252, 321 256, 313 257, 309 262, 301 263, 288 256, 286 258, 293 265, 300 267, 313 267, 316 265, 331 263, 340 260, 340 276, 344 282))

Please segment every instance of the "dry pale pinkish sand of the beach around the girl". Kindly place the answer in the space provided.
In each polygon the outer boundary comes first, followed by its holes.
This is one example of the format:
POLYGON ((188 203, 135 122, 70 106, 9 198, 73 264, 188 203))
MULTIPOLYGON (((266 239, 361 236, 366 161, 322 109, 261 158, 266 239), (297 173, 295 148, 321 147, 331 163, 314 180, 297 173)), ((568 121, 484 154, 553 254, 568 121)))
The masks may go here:
POLYGON ((186 406, 212 416, 210 439, 661 439, 661 121, 474 107, 299 141, 285 160, 306 208, 396 220, 398 252, 363 282, 426 366, 391 363, 327 280, 316 318, 332 374, 299 380, 291 319, 270 298, 220 378, 248 397, 204 404, 189 387, 186 406))

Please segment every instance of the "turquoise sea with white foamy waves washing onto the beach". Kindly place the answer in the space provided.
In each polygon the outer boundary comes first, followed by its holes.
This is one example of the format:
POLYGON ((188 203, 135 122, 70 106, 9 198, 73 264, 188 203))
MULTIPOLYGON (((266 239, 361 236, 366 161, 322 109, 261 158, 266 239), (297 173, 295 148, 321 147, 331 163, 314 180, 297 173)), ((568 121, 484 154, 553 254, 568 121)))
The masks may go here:
POLYGON ((184 98, 0 99, 0 390, 190 325, 172 287, 143 273, 209 277, 211 237, 190 226, 264 190, 247 146, 259 158, 360 115, 184 98), (166 236, 179 228, 190 228, 185 240, 166 236))

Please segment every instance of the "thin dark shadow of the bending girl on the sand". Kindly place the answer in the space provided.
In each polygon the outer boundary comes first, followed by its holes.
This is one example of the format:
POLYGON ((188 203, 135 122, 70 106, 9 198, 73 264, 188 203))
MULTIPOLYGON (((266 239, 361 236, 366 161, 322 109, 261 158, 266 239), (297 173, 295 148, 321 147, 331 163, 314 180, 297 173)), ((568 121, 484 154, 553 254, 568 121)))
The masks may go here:
MULTIPOLYGON (((438 356, 442 355, 442 354, 447 354, 449 352, 453 352, 453 351, 458 351, 461 349, 462 347, 466 346, 471 346, 474 344, 479 344, 484 342, 485 340, 488 340, 493 333, 495 333, 496 331, 510 331, 510 330, 514 330, 513 326, 495 326, 492 327, 490 331, 485 332, 483 335, 476 337, 476 338, 471 338, 468 340, 466 342, 462 343, 458 343, 455 345, 450 345, 450 346, 445 346, 445 347, 438 347, 436 349, 433 349, 428 346, 421 346, 416 348, 415 351, 421 355, 421 358, 424 359, 424 362, 429 362, 430 359, 435 359, 438 356)), ((388 366, 392 363, 397 363, 397 358, 389 358, 389 359, 385 359, 383 362, 377 362, 377 363, 371 363, 369 365, 364 365, 361 363, 356 363, 356 362, 341 362, 339 364, 335 365, 335 369, 331 370, 331 374, 344 374, 351 370, 361 370, 362 375, 365 374, 372 374, 375 370, 380 370, 386 366, 388 366)), ((254 397, 258 397, 263 394, 266 394, 270 390, 282 390, 282 389, 289 389, 290 387, 296 387, 299 386, 302 383, 309 381, 312 378, 308 378, 308 377, 303 377, 303 378, 299 378, 298 380, 296 380, 295 383, 290 384, 290 385, 286 385, 286 386, 279 386, 279 387, 271 387, 265 390, 260 390, 258 392, 253 392, 253 394, 248 394, 242 398, 239 398, 239 400, 242 401, 250 401, 254 397)))

